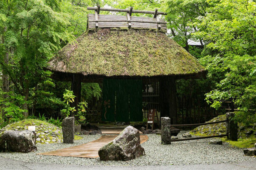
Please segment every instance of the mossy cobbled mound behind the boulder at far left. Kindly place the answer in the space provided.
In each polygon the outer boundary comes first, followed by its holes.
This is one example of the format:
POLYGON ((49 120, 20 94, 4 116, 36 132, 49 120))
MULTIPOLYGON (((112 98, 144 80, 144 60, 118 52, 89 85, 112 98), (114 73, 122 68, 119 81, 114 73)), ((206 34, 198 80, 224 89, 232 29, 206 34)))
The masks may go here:
POLYGON ((62 129, 45 121, 36 119, 24 119, 14 122, 2 128, 2 134, 7 130, 28 130, 28 126, 36 126, 36 144, 61 143, 63 142, 62 129))

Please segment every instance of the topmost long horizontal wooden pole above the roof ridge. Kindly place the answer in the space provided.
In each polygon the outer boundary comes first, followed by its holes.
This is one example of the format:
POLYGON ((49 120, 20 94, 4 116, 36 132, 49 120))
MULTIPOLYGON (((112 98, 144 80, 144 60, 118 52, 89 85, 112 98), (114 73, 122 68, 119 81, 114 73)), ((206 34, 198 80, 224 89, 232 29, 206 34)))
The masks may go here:
MULTIPOLYGON (((98 7, 87 7, 88 10, 97 10, 98 7)), ((100 8, 101 11, 114 11, 114 12, 129 12, 130 9, 116 9, 116 8, 100 8)), ((155 14, 155 11, 144 11, 144 10, 132 10, 132 13, 141 13, 141 14, 155 14)), ((157 12, 158 15, 167 15, 164 12, 157 12)))

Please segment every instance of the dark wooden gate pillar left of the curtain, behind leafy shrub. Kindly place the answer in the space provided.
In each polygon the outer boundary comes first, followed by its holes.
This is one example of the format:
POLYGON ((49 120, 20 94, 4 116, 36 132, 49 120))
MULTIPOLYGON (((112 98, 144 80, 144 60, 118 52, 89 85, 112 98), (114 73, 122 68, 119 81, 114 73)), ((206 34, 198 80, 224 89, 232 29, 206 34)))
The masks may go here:
POLYGON ((76 111, 73 112, 73 115, 77 113, 77 105, 81 102, 81 74, 73 74, 73 78, 71 80, 71 90, 74 95, 74 102, 71 103, 71 107, 75 107, 76 111))

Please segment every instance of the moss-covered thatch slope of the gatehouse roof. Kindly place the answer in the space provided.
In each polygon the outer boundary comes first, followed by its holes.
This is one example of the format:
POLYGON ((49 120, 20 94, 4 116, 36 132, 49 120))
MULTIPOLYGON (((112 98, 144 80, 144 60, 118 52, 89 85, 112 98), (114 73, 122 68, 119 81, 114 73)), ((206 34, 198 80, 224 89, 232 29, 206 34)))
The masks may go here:
POLYGON ((52 71, 102 76, 186 75, 204 70, 165 33, 128 28, 87 30, 48 63, 52 71))

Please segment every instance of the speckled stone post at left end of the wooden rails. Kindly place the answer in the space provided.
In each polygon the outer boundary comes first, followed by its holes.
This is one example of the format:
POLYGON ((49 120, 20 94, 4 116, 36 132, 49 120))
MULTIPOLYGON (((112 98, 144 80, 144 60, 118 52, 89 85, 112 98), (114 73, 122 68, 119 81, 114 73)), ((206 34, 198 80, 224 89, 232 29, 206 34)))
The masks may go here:
POLYGON ((169 117, 161 117, 161 143, 164 145, 171 144, 171 119, 169 117))

